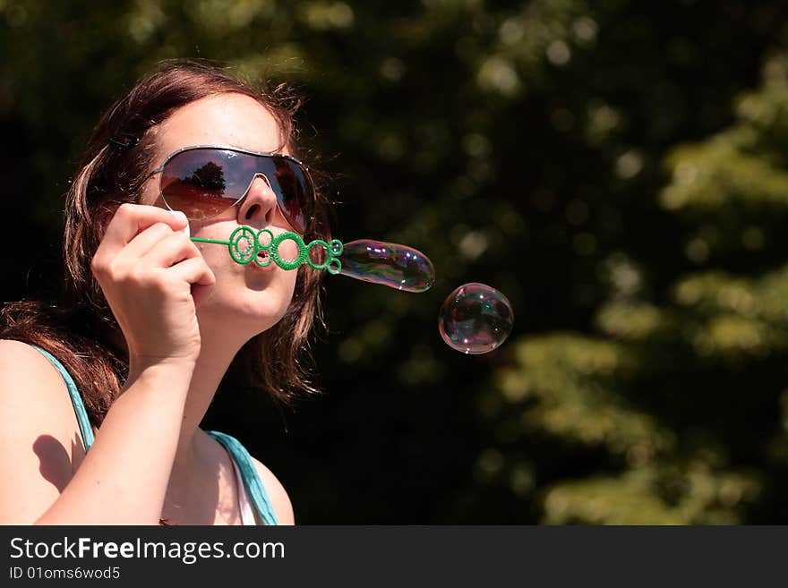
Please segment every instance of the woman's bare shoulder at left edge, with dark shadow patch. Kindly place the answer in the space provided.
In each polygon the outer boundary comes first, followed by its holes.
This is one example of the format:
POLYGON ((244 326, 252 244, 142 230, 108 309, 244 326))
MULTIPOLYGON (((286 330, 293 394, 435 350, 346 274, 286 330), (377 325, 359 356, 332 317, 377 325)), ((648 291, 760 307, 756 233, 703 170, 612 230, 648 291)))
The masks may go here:
POLYGON ((79 432, 63 378, 30 345, 0 339, 0 523, 34 521, 73 475, 79 432))

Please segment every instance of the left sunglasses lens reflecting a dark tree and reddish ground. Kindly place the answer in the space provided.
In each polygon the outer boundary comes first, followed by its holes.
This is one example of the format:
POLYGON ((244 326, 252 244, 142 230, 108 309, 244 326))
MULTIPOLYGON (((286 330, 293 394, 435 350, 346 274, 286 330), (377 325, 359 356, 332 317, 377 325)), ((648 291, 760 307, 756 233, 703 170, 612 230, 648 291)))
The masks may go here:
MULTIPOLYGON (((244 195, 239 178, 243 155, 223 149, 189 149, 171 158, 161 173, 161 195, 186 217, 215 217, 244 195)), ((248 158, 248 156, 246 156, 248 158)), ((249 177, 249 172, 245 174, 249 177)))

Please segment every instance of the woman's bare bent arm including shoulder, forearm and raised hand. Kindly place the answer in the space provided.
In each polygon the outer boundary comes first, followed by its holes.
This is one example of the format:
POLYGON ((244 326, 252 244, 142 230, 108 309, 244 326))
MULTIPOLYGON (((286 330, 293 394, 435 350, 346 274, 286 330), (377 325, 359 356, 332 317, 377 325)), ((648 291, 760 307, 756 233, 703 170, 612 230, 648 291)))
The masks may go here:
POLYGON ((201 348, 193 288, 216 281, 179 232, 185 224, 165 209, 124 204, 107 226, 91 270, 123 331, 129 377, 65 485, 58 446, 70 447, 73 431, 56 400, 68 397, 64 384, 55 383, 36 350, 4 343, 0 522, 22 522, 21 516, 39 524, 158 523, 201 348), (42 444, 49 448, 39 457, 42 444), (54 502, 47 472, 57 473, 54 502))

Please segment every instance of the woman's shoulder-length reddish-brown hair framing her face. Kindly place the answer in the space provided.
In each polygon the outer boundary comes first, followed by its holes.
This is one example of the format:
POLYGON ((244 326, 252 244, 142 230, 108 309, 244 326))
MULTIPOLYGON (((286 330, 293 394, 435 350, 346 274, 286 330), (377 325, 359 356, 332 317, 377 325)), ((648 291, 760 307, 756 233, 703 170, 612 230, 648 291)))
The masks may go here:
MULTIPOLYGON (((61 304, 7 304, 0 311, 0 337, 39 345, 72 375, 90 421, 99 426, 128 374, 128 357, 115 317, 90 271, 90 260, 109 218, 123 202, 135 202, 153 167, 156 143, 150 129, 201 98, 227 92, 254 98, 277 120, 282 146, 295 154, 293 116, 301 101, 287 87, 255 88, 209 64, 176 61, 138 81, 116 101, 90 134, 78 172, 65 194, 64 282, 61 304)), ((304 234, 330 240, 329 202, 318 190, 313 225, 304 234)), ((307 340, 321 320, 321 271, 298 269, 295 293, 284 318, 238 355, 254 386, 289 402, 297 392, 316 392, 304 365, 307 340)))

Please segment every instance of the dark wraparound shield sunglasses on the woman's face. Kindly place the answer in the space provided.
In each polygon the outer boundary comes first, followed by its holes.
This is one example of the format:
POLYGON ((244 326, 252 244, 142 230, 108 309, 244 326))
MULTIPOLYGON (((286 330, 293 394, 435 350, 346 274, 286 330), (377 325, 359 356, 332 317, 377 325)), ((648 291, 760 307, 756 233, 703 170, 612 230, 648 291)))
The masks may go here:
POLYGON ((197 145, 178 149, 150 172, 161 172, 159 192, 168 209, 190 220, 206 220, 236 206, 262 175, 276 194, 278 209, 296 233, 313 220, 314 184, 303 163, 280 153, 197 145))

